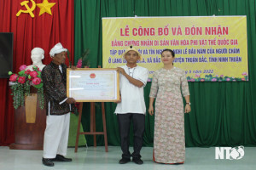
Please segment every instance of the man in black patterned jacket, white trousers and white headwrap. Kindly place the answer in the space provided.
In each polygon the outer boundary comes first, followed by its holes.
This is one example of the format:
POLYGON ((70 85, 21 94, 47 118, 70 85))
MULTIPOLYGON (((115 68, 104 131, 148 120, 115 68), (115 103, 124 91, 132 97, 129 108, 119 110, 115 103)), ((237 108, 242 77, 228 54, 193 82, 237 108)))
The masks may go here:
POLYGON ((67 98, 67 49, 57 43, 49 52, 52 61, 42 71, 46 99, 46 129, 44 132, 43 164, 53 167, 53 161, 72 161, 67 155, 70 112, 76 101, 67 98))

